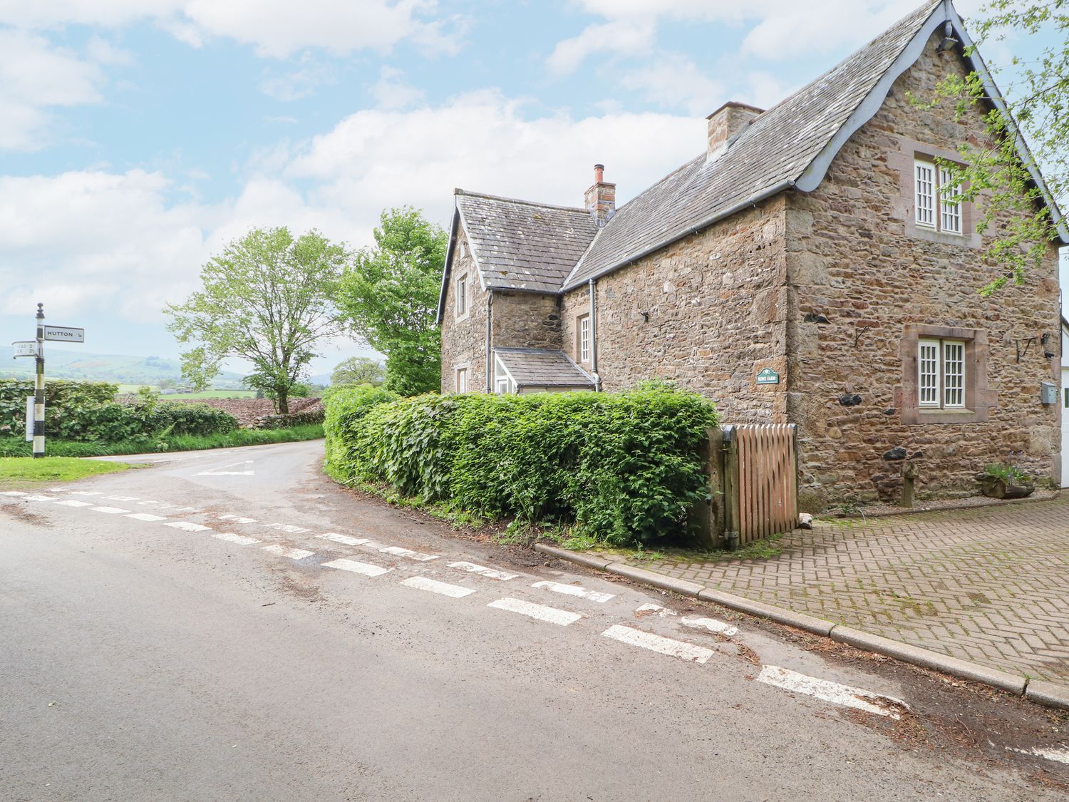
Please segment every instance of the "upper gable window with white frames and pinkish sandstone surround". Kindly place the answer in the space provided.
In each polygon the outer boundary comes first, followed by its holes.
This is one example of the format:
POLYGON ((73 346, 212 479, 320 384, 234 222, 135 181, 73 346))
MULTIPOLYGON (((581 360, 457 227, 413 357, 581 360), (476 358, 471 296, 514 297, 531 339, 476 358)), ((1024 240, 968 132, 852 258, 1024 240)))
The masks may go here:
MULTIPOLYGON (((898 173, 899 194, 892 199, 892 216, 904 223, 903 233, 914 240, 944 245, 982 247, 974 220, 976 203, 947 203, 954 180, 939 161, 960 164, 955 151, 935 148, 907 137, 898 138, 898 149, 888 154, 887 166, 898 173), (941 187, 947 187, 944 192, 941 187)), ((952 197, 952 196, 951 196, 952 197)))

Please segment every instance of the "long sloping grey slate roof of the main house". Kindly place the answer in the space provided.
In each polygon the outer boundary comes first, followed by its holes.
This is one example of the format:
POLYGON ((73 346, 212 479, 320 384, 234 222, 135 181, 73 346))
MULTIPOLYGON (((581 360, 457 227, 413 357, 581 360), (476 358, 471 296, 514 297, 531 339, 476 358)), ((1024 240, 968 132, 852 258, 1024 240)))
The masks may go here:
POLYGON ((758 115, 719 158, 683 165, 621 206, 564 281, 571 289, 717 213, 796 181, 943 4, 930 0, 845 61, 758 115))

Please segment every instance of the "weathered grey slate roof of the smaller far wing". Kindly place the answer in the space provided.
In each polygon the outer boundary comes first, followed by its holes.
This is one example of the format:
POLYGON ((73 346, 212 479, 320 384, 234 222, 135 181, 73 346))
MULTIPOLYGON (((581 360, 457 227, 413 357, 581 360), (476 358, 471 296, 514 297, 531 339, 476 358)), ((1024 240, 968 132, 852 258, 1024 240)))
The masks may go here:
POLYGON ((598 231, 584 209, 463 189, 456 211, 483 284, 495 289, 559 292, 598 231))

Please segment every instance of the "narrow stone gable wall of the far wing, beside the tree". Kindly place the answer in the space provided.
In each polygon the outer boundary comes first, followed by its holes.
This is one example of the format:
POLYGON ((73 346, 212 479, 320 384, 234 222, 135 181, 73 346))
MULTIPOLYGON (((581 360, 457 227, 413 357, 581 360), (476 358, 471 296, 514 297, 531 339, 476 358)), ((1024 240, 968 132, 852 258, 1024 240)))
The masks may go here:
POLYGON ((486 387, 486 299, 463 229, 454 244, 452 272, 441 319, 441 391, 456 391, 456 369, 467 367, 468 390, 486 387), (468 275, 468 313, 456 319, 456 277, 468 275))

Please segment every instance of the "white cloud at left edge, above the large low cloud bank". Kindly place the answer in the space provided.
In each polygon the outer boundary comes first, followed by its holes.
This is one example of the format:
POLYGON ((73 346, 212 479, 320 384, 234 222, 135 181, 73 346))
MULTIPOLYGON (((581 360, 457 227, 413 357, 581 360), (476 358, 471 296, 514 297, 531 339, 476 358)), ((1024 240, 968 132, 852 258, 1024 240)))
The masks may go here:
POLYGON ((93 61, 36 34, 0 29, 0 150, 44 146, 49 109, 98 103, 103 80, 93 61))

